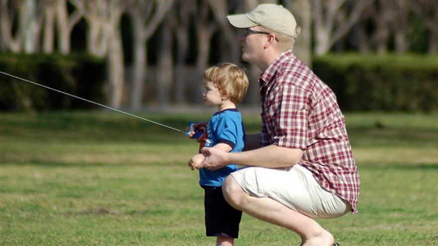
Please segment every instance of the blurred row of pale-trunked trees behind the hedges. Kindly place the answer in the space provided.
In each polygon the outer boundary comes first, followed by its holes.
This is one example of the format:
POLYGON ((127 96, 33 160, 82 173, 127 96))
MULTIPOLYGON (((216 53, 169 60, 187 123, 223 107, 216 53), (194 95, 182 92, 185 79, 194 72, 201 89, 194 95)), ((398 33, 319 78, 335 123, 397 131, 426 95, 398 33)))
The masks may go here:
MULTIPOLYGON (((111 106, 187 105, 200 101, 210 65, 243 64, 258 77, 225 16, 262 2, 294 13, 295 54, 309 66, 328 53, 438 53, 437 0, 0 0, 0 52, 92 54, 105 61, 111 106)), ((258 100, 250 86, 245 103, 258 100)))

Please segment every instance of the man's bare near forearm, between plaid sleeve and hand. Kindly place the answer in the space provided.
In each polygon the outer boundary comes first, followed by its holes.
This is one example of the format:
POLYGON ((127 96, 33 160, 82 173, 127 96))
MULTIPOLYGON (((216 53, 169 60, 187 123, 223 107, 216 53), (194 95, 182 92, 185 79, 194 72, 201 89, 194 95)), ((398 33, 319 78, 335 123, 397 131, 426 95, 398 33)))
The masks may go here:
POLYGON ((303 157, 303 151, 300 149, 289 149, 269 145, 252 151, 240 153, 229 153, 229 163, 263 166, 263 167, 285 167, 295 165, 303 157))

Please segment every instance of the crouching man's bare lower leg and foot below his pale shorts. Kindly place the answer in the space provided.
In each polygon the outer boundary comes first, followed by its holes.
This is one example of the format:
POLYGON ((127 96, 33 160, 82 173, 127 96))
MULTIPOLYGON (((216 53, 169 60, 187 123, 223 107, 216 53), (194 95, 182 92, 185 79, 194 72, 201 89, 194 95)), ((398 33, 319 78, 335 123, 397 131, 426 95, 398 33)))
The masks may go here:
POLYGON ((222 184, 225 200, 257 219, 287 228, 301 236, 302 246, 331 246, 333 236, 315 220, 271 199, 250 196, 229 175, 222 184))

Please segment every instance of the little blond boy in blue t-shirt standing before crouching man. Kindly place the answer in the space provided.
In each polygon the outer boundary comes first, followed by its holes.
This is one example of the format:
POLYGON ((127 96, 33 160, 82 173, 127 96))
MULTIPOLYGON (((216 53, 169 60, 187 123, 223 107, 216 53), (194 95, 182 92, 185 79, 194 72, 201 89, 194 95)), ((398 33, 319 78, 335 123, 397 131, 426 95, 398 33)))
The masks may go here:
MULTIPOLYGON (((236 108, 248 88, 245 72, 234 64, 222 63, 209 68, 202 79, 205 87, 204 103, 218 107, 207 124, 205 147, 218 148, 226 152, 241 152, 245 141, 242 117, 236 108)), ((193 136, 193 132, 189 134, 193 136)), ((242 212, 232 208, 223 198, 222 182, 229 173, 237 169, 231 164, 219 170, 203 168, 207 156, 197 154, 189 166, 199 169, 200 185, 205 190, 205 223, 208 237, 217 237, 217 246, 232 246, 238 237, 242 212)))

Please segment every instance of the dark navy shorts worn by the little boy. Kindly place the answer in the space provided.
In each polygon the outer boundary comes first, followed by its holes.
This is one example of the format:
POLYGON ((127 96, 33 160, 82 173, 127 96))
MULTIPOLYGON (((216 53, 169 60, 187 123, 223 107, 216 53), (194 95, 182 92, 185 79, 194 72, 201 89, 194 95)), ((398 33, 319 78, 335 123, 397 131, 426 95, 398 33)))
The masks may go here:
POLYGON ((242 212, 231 207, 223 198, 222 187, 202 186, 207 237, 239 237, 242 212))

